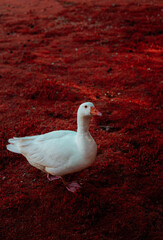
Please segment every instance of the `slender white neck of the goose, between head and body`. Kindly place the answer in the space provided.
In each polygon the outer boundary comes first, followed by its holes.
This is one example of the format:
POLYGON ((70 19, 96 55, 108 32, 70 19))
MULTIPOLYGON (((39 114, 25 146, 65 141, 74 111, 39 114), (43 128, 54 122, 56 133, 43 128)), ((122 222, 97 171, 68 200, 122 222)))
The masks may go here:
POLYGON ((90 117, 83 117, 83 116, 78 116, 77 118, 77 125, 78 129, 77 132, 80 134, 86 134, 89 132, 89 120, 90 117))

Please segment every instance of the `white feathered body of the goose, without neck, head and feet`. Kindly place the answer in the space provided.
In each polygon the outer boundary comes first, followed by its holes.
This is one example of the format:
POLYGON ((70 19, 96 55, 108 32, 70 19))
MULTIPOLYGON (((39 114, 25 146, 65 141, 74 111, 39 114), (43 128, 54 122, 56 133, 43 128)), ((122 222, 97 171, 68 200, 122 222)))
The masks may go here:
POLYGON ((91 135, 80 136, 75 131, 53 131, 39 136, 14 138, 11 142, 18 146, 32 166, 56 176, 90 166, 97 153, 97 145, 91 135))

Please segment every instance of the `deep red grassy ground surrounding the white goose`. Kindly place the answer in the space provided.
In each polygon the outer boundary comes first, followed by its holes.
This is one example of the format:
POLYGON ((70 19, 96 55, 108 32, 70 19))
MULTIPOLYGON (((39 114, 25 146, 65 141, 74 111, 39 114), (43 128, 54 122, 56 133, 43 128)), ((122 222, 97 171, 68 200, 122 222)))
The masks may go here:
POLYGON ((161 239, 161 1, 1 0, 1 239, 161 239), (7 139, 76 129, 103 113, 94 165, 60 181, 7 139))

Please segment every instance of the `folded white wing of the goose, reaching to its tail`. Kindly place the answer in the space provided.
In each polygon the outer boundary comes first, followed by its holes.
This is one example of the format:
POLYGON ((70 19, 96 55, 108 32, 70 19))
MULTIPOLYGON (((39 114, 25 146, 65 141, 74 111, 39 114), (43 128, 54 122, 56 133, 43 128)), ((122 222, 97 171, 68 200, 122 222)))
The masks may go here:
POLYGON ((9 143, 17 147, 30 163, 58 168, 65 165, 75 154, 75 136, 74 131, 53 131, 42 135, 9 139, 9 143))

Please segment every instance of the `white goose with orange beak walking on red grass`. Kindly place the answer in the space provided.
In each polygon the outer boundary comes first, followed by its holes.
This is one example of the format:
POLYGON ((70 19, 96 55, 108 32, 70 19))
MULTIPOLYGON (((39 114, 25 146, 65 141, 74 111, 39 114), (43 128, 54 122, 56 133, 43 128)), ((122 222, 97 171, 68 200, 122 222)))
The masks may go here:
POLYGON ((87 168, 95 160, 97 145, 89 132, 92 115, 102 114, 93 103, 83 103, 77 112, 77 132, 60 130, 30 137, 14 137, 8 140, 10 144, 7 149, 21 153, 32 166, 46 172, 50 181, 61 178, 66 188, 75 192, 80 185, 77 182, 66 183, 61 176, 87 168))

